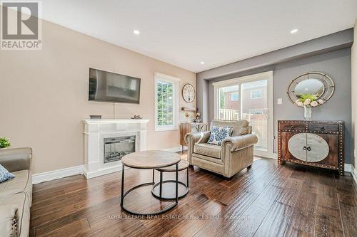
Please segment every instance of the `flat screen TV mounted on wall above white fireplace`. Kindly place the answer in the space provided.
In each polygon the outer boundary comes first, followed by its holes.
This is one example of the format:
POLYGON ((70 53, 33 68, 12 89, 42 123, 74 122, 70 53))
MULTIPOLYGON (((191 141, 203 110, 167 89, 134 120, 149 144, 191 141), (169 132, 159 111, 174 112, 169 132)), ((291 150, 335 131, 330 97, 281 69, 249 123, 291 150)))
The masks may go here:
POLYGON ((89 100, 140 102, 140 78, 89 68, 89 100))

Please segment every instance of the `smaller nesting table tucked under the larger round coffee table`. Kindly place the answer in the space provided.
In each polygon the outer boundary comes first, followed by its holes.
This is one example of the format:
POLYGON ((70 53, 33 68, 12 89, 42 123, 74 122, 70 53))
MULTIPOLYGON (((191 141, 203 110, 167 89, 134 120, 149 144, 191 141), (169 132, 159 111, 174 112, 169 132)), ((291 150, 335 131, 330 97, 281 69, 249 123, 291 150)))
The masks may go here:
MULTIPOLYGON (((184 191, 181 191, 181 193, 178 193, 178 199, 182 198, 183 196, 186 196, 188 194, 188 162, 184 159, 181 159, 180 162, 178 162, 178 171, 182 171, 186 169, 186 184, 181 182, 181 181, 176 181, 176 180, 163 180, 163 173, 164 172, 176 172, 176 165, 173 165, 171 167, 164 167, 164 168, 159 168, 156 169, 156 171, 160 172, 160 181, 156 184, 154 184, 153 189, 151 190, 151 193, 158 199, 163 199, 163 200, 174 200, 176 199, 176 194, 173 192, 171 194, 164 194, 163 191, 164 189, 170 189, 170 185, 176 184, 176 182, 180 185, 183 186, 184 191)), ((154 176, 154 171, 153 171, 153 183, 155 183, 155 176, 154 176)))

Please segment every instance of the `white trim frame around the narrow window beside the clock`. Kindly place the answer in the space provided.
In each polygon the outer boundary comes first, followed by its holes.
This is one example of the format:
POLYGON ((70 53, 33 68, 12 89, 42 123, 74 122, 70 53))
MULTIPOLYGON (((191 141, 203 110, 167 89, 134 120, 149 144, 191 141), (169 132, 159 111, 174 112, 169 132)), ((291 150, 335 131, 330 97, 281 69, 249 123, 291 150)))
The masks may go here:
POLYGON ((154 110, 155 110, 155 131, 171 131, 171 130, 178 130, 178 101, 179 101, 179 83, 181 79, 180 78, 175 78, 171 75, 165 75, 163 73, 154 73, 154 110), (165 81, 168 83, 174 83, 174 106, 173 106, 173 119, 174 119, 174 125, 158 125, 157 123, 157 118, 158 118, 158 111, 156 110, 157 108, 157 81, 165 81))

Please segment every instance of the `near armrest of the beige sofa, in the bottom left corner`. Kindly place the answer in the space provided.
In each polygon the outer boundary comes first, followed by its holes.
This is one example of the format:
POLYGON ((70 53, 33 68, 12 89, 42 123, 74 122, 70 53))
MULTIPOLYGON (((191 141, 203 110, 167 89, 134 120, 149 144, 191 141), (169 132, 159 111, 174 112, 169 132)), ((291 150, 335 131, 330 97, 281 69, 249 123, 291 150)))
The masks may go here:
POLYGON ((17 236, 17 211, 15 205, 0 205, 0 236, 17 236))

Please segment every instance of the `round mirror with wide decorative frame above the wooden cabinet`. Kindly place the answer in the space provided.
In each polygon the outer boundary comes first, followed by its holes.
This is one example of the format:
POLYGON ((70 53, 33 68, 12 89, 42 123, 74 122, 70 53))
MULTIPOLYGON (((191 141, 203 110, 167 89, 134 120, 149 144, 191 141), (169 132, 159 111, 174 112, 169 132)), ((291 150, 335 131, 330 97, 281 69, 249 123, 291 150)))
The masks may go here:
POLYGON ((324 73, 304 73, 294 78, 288 85, 288 98, 294 103, 301 95, 316 95, 326 102, 333 95, 333 80, 324 73))

